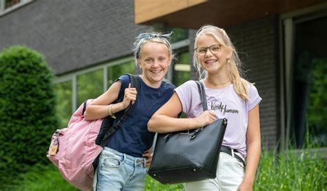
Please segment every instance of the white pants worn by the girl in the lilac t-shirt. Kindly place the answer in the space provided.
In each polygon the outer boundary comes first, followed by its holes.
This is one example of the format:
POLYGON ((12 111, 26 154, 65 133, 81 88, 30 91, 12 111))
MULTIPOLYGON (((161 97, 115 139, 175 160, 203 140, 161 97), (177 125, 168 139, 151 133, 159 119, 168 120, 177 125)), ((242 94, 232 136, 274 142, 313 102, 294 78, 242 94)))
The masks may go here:
MULTIPOLYGON (((239 155, 239 153, 235 153, 239 155)), ((239 155, 240 156, 240 155, 239 155)), ((237 190, 244 178, 244 165, 227 153, 220 153, 217 177, 185 183, 186 190, 237 190)))

